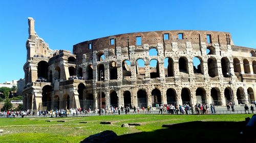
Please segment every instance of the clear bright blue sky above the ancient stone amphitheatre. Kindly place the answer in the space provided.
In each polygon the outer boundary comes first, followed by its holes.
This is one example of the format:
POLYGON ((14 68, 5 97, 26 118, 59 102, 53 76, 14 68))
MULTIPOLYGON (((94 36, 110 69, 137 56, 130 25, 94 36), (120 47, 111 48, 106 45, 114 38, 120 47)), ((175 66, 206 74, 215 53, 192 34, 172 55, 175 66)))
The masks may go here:
POLYGON ((28 17, 51 49, 95 38, 160 30, 230 32, 256 48, 256 1, 2 1, 0 82, 24 78, 28 17))

